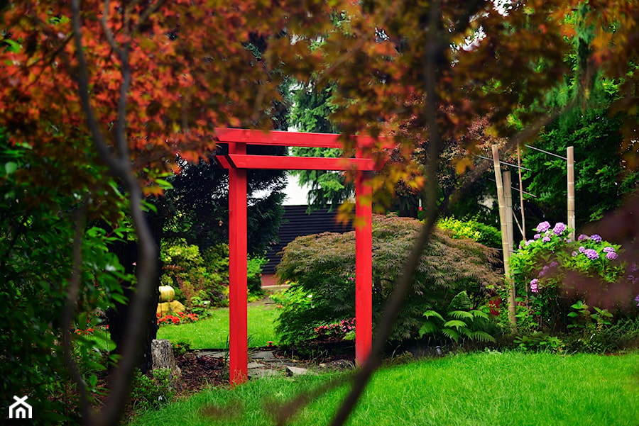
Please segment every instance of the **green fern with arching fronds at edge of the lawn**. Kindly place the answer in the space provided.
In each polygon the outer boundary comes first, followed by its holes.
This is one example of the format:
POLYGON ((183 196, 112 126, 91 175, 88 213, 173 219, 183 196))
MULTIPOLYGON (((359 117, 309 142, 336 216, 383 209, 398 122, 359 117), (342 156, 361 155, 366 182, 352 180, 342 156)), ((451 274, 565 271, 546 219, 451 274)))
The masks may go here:
POLYGON ((445 316, 436 310, 427 310, 423 316, 426 320, 420 327, 420 337, 443 335, 455 343, 464 338, 476 342, 495 342, 493 336, 481 330, 488 323, 488 314, 473 309, 471 298, 466 291, 457 293, 445 316))

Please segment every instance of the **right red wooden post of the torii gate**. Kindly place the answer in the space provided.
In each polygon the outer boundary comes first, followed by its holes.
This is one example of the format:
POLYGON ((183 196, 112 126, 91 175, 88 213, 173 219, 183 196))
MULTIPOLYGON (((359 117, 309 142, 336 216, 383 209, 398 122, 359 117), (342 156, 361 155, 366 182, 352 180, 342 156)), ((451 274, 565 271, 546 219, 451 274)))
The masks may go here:
POLYGON ((361 366, 373 343, 373 201, 366 176, 355 181, 355 361, 361 366))

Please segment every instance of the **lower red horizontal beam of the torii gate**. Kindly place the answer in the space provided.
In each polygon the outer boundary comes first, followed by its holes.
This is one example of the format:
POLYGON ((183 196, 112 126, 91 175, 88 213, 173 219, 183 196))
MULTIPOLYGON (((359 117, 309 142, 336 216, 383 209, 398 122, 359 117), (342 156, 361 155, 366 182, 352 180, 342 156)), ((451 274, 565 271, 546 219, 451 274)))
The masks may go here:
POLYGON ((217 155, 225 169, 376 170, 368 158, 279 157, 275 155, 217 155))

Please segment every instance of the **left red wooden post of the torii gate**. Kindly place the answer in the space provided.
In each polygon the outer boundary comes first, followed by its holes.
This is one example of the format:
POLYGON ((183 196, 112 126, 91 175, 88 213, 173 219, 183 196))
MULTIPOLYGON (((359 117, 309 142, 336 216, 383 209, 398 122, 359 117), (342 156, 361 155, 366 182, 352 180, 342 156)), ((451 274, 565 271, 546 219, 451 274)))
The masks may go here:
MULTIPOLYGON (((246 144, 229 143, 229 154, 246 154, 246 144)), ((246 169, 229 169, 229 375, 231 385, 248 378, 246 320, 246 169)))

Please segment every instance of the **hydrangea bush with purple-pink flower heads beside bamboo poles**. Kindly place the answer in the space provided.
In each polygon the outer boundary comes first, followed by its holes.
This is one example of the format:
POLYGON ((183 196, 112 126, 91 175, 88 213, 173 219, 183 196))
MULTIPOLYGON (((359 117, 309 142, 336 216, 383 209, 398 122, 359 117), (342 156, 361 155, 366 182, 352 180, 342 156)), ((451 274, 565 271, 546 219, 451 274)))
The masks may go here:
POLYGON ((629 291, 639 284, 639 267, 619 258, 620 245, 597 234, 582 234, 573 241, 564 223, 542 222, 535 231, 532 240, 521 242, 510 257, 520 330, 566 331, 577 301, 611 311, 638 304, 629 291))

